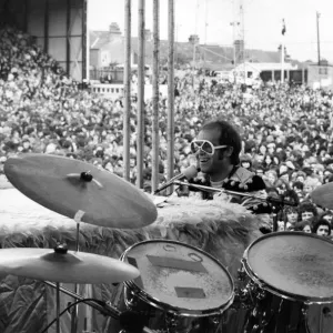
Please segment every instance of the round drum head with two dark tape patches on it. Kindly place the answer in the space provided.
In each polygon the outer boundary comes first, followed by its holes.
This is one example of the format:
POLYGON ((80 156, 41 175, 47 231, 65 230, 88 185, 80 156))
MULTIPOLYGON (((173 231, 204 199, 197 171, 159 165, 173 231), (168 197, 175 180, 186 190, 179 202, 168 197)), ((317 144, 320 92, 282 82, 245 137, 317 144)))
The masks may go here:
POLYGON ((122 260, 139 269, 141 276, 134 284, 153 303, 169 304, 185 313, 220 310, 233 300, 233 282, 228 271, 196 248, 152 240, 134 244, 122 260))

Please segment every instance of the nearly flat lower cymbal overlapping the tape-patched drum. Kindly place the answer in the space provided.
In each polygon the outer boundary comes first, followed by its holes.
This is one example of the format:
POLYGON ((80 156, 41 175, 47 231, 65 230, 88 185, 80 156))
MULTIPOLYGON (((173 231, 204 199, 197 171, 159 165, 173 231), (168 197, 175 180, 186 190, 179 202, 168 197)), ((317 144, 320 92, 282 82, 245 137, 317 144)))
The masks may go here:
POLYGON ((137 268, 120 260, 85 252, 57 253, 52 249, 11 248, 0 250, 0 272, 62 283, 115 283, 140 275, 137 268))

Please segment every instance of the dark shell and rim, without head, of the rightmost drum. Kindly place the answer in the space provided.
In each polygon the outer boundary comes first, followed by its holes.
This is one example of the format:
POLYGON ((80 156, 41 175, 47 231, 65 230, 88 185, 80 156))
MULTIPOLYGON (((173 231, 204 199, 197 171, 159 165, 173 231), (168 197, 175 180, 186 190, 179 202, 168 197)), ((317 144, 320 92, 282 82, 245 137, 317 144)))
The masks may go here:
MULTIPOLYGON (((315 296, 303 295, 285 291, 281 287, 275 287, 270 284, 269 279, 262 279, 253 269, 250 258, 250 252, 253 246, 262 241, 274 238, 299 238, 309 241, 319 242, 321 245, 331 246, 332 242, 324 238, 319 238, 312 234, 294 233, 294 232, 279 232, 276 234, 264 235, 254 241, 245 251, 242 260, 243 268, 251 280, 252 294, 256 295, 255 304, 251 311, 249 321, 245 325, 245 332, 252 332, 256 326, 260 326, 261 332, 331 332, 332 321, 330 320, 330 305, 332 303, 332 295, 315 296), (259 296, 258 296, 259 295, 259 296), (262 310, 262 311, 261 311, 262 310), (323 313, 329 311, 329 315, 323 313), (262 323, 266 322, 268 325, 262 327, 262 323), (324 326, 330 327, 329 331, 324 326)), ((274 249, 276 246, 273 246, 274 249)), ((278 246, 279 249, 279 246, 278 246)), ((284 250, 280 246, 281 251, 284 250)), ((310 246, 311 250, 305 251, 305 255, 311 255, 311 251, 316 246, 310 246), (312 248, 312 249, 311 249, 312 248)), ((331 248, 332 249, 332 248, 331 248)), ((320 251, 320 250, 317 250, 320 251)), ((282 252, 283 253, 283 252, 282 252)), ((287 253, 287 252, 286 252, 287 253)), ((293 254, 293 253, 292 253, 293 254)), ((305 256, 306 258, 306 256, 305 256)), ((311 256, 310 256, 311 258, 311 256)), ((264 262, 262 263, 264 264, 264 262)), ((287 272, 285 272, 287 273, 287 272)), ((324 281, 324 280, 323 280, 324 281)), ((249 284, 248 284, 249 287, 249 284)), ((251 289, 251 286, 250 286, 251 289)))

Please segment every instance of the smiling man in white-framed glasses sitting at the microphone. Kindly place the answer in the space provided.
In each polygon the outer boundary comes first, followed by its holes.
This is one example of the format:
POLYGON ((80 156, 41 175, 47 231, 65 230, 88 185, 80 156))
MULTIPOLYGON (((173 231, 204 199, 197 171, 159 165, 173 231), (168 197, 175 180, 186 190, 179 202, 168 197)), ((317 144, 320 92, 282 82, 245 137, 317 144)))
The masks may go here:
MULTIPOLYGON (((228 200, 246 206, 255 214, 271 213, 271 208, 264 200, 264 181, 240 165, 241 149, 241 137, 231 123, 213 120, 204 124, 196 139, 191 142, 191 151, 196 155, 202 176, 191 183, 261 196, 263 200, 242 195, 229 196, 228 200)), ((213 199, 210 192, 202 192, 201 196, 205 200, 213 199)))

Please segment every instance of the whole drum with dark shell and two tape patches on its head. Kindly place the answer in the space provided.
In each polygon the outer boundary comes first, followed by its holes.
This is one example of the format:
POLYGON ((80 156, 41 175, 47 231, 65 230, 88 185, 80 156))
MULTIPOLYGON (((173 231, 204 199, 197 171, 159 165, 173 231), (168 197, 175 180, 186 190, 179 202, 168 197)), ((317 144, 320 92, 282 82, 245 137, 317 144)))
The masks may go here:
MULTIPOLYGON (((234 297, 233 281, 210 254, 175 241, 151 240, 128 249, 121 260, 141 275, 118 286, 112 303, 145 316, 159 332, 216 332, 234 297)), ((111 321, 110 333, 119 332, 111 321)))

